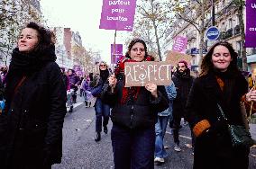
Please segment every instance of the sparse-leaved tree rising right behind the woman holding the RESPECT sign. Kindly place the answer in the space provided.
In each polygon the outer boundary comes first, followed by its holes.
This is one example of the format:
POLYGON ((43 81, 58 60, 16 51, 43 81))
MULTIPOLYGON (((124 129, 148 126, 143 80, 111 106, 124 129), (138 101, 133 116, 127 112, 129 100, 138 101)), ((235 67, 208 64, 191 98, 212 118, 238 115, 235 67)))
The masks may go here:
MULTIPOLYGON (((161 41, 167 29, 172 22, 173 14, 170 13, 170 4, 176 1, 169 2, 167 0, 141 0, 137 4, 137 18, 135 21, 135 31, 133 36, 140 35, 150 45, 151 52, 157 49, 157 54, 160 60, 161 56, 161 41)), ((171 9, 173 9, 171 7, 171 9)))

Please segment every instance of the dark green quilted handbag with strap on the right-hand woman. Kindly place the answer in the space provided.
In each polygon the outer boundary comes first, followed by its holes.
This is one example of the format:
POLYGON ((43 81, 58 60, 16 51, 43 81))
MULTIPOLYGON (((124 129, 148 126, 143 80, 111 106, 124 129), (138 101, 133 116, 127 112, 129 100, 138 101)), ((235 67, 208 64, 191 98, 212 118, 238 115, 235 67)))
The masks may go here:
MULTIPOLYGON (((228 120, 224 115, 223 109, 219 104, 217 105, 224 120, 227 122, 228 120)), ((244 126, 232 125, 232 124, 229 124, 228 122, 227 122, 227 125, 228 125, 228 131, 231 137, 233 147, 251 147, 254 144, 256 144, 256 141, 251 138, 251 133, 249 132, 248 129, 245 129, 244 126)))

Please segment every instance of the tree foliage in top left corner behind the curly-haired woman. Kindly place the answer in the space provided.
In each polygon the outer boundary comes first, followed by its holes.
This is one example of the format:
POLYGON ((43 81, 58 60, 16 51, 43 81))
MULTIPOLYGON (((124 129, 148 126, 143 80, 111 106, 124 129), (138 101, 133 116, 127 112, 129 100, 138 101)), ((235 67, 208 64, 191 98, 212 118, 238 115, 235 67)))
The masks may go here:
POLYGON ((16 44, 19 31, 24 23, 41 22, 39 13, 31 4, 31 0, 2 0, 0 2, 0 52, 7 62, 11 50, 16 44))

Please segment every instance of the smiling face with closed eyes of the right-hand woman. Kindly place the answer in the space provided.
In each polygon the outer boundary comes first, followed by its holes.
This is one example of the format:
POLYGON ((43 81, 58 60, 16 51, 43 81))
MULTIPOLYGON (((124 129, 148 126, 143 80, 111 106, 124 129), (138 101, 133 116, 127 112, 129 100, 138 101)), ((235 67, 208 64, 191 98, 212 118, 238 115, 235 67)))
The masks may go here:
POLYGON ((225 72, 232 61, 229 50, 222 46, 216 46, 212 55, 212 62, 216 69, 225 72))

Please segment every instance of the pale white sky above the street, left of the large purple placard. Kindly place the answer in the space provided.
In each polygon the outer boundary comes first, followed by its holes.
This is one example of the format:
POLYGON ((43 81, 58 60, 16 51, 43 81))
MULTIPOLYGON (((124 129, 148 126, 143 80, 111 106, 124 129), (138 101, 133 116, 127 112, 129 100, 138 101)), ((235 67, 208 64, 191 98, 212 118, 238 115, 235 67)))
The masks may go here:
MULTIPOLYGON (((114 30, 99 29, 103 0, 41 0, 41 10, 49 26, 69 27, 79 31, 84 47, 100 50, 102 58, 110 63, 110 44, 114 30)), ((126 31, 117 31, 116 43, 124 43, 126 31)), ((125 47, 124 49, 125 50, 125 47)))

